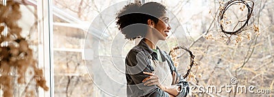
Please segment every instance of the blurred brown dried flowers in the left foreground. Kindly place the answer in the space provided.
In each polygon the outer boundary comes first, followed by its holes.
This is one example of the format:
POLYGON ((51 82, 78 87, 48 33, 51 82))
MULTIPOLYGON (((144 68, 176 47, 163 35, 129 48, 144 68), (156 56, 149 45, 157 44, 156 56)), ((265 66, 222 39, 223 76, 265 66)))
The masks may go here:
POLYGON ((17 21, 21 18, 20 5, 16 1, 0 3, 0 90, 3 96, 14 96, 14 85, 23 84, 21 96, 35 96, 29 85, 49 89, 39 69, 33 51, 25 38, 21 36, 21 27, 17 21), (29 79, 29 80, 27 80, 29 79))

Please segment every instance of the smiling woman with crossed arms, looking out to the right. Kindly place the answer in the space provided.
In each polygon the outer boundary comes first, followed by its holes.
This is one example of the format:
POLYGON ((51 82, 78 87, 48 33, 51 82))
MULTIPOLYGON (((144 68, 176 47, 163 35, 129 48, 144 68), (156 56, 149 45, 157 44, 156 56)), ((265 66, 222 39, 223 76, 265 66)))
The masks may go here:
POLYGON ((142 38, 125 59, 127 96, 186 96, 188 82, 171 57, 156 46, 159 40, 166 40, 171 29, 165 6, 129 3, 117 15, 116 24, 126 39, 142 38))

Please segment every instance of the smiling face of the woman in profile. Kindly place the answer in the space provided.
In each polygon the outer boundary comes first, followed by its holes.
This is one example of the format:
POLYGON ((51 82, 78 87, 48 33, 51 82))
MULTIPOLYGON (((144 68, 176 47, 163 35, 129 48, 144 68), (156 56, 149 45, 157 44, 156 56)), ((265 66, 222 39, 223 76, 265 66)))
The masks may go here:
POLYGON ((160 16, 160 18, 158 19, 159 21, 154 27, 158 30, 157 32, 155 32, 158 33, 156 34, 156 36, 158 36, 159 40, 166 40, 169 30, 171 29, 169 25, 169 16, 167 14, 164 14, 163 16, 160 16))

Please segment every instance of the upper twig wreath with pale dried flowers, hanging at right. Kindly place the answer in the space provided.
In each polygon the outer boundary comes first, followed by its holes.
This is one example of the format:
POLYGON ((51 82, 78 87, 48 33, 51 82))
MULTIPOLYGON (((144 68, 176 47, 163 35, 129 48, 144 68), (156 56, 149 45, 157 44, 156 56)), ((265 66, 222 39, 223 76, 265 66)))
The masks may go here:
MULTIPOLYGON (((216 19, 219 22, 219 30, 217 31, 219 33, 213 35, 211 32, 209 32, 206 35, 204 35, 203 38, 206 38, 206 40, 224 42, 226 44, 231 42, 231 40, 235 40, 235 45, 237 45, 237 44, 240 44, 240 42, 242 42, 243 38, 246 38, 247 40, 251 40, 251 36, 252 36, 251 30, 254 31, 256 36, 260 36, 259 25, 255 25, 254 21, 251 21, 251 23, 253 23, 253 29, 251 29, 252 27, 249 26, 249 21, 251 20, 251 16, 253 15, 253 6, 254 6, 253 1, 229 0, 227 2, 219 1, 219 4, 220 4, 219 14, 217 15, 217 19, 216 19), (230 18, 232 20, 229 20, 227 16, 227 14, 229 13, 226 13, 226 12, 229 8, 233 8, 232 5, 239 5, 240 12, 245 12, 245 9, 246 9, 247 16, 242 17, 245 20, 234 20, 235 18, 230 18), (227 27, 230 27, 232 31, 227 30, 227 27), (242 33, 242 31, 245 31, 245 33, 242 33), (235 36, 235 37, 232 37, 232 36, 235 36)), ((236 10, 234 9, 234 11, 236 10)), ((210 14, 211 13, 212 12, 210 11, 210 14)))

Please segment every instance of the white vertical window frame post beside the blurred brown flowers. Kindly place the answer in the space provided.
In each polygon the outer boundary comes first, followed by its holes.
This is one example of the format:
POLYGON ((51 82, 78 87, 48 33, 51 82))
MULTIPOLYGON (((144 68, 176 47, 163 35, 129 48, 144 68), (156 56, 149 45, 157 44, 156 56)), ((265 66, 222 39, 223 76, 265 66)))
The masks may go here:
POLYGON ((49 91, 38 89, 38 96, 54 96, 54 73, 53 73, 53 14, 51 0, 38 0, 38 66, 44 70, 49 91))

